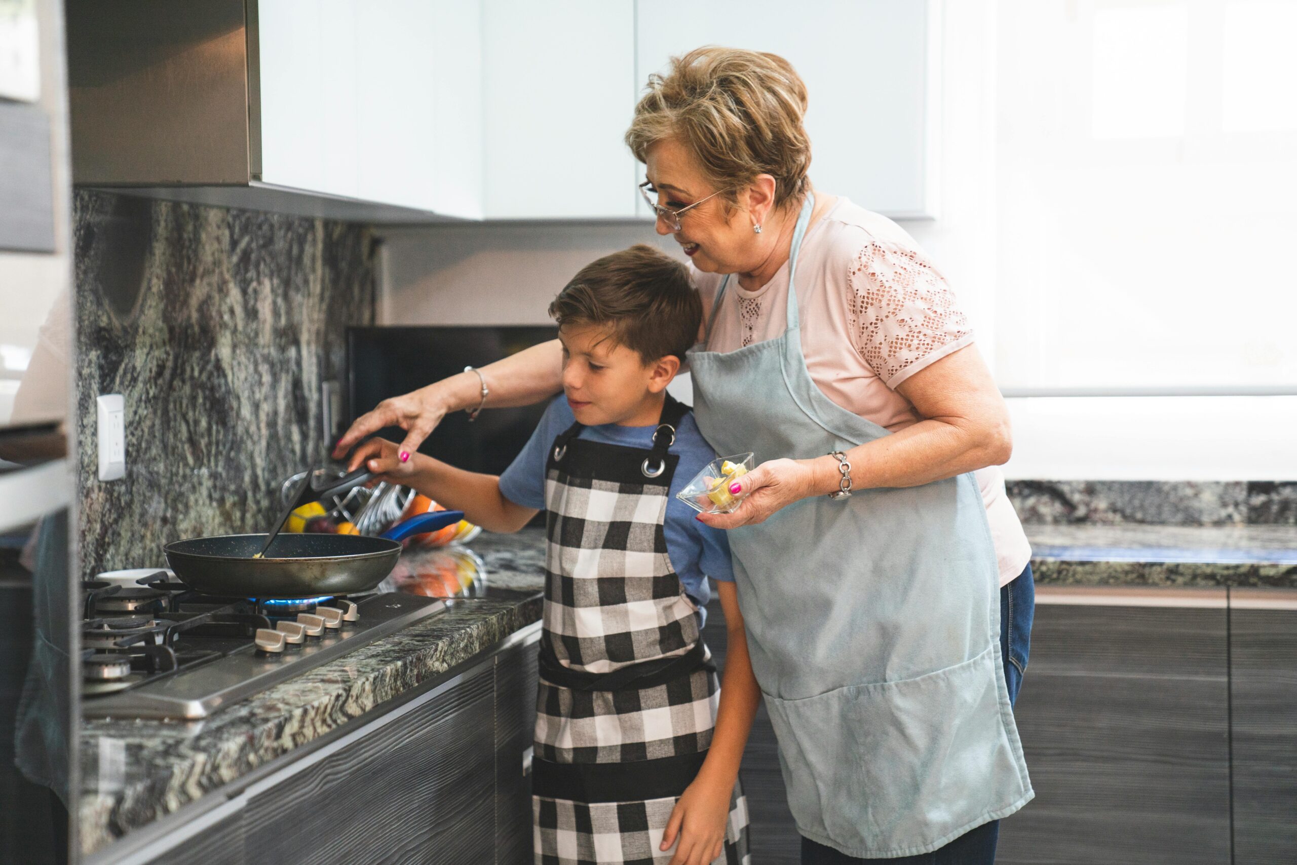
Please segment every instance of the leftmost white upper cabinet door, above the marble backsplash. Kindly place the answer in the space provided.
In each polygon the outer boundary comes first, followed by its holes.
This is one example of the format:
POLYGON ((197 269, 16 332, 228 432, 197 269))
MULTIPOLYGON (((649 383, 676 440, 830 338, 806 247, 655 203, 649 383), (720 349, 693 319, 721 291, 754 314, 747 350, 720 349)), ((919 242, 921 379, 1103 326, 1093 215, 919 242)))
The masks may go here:
POLYGON ((261 0, 261 182, 481 218, 480 6, 261 0))

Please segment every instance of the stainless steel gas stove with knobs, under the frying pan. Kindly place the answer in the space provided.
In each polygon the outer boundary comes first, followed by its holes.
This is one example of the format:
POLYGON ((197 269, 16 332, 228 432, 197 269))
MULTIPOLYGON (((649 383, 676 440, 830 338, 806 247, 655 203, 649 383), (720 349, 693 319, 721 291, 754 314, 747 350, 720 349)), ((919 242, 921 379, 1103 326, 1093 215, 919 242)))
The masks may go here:
POLYGON ((396 593, 218 598, 139 573, 83 584, 86 717, 208 717, 446 607, 396 593))

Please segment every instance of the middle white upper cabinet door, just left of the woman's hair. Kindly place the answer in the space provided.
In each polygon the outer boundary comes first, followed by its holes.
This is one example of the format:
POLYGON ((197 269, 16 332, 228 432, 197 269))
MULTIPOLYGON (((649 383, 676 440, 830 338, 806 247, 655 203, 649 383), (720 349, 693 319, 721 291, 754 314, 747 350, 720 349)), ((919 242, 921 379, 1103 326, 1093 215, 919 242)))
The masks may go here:
POLYGON ((484 0, 488 219, 636 217, 633 0, 484 0))

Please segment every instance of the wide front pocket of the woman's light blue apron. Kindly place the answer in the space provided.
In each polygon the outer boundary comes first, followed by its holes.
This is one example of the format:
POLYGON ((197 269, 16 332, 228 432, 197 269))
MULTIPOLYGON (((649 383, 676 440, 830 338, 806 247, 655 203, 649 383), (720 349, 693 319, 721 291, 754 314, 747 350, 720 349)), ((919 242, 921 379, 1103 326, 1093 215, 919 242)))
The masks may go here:
POLYGON ((1025 804, 1030 782, 995 664, 992 647, 918 678, 767 694, 802 834, 851 856, 913 856, 1025 804))

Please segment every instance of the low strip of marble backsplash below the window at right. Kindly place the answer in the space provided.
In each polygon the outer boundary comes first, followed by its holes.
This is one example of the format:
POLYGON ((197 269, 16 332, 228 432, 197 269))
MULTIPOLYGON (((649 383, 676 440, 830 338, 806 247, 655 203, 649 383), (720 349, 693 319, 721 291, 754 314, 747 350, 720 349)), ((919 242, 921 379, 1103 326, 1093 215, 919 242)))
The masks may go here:
POLYGON ((1297 525, 1297 481, 1008 482, 1023 523, 1297 525))

